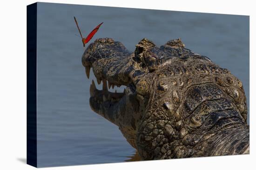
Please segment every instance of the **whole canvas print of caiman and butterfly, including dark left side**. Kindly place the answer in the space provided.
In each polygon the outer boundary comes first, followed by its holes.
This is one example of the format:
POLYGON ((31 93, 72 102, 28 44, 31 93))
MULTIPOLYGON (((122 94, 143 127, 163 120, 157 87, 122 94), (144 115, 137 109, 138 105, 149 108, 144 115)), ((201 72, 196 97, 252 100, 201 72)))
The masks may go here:
POLYGON ((249 16, 27 6, 27 164, 237 154, 249 154, 249 16))

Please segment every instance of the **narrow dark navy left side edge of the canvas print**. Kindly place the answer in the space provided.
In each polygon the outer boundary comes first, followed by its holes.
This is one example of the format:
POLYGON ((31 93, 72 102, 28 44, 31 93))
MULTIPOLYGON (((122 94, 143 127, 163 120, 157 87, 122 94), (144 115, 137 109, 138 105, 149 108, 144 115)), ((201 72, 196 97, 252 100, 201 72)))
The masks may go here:
POLYGON ((37 167, 37 3, 27 6, 27 164, 37 167))

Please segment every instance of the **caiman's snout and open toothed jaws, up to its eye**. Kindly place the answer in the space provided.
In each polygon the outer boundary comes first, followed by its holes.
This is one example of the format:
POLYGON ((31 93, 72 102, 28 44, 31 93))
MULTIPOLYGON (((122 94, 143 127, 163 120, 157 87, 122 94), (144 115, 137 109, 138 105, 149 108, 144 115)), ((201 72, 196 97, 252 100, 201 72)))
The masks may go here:
MULTIPOLYGON (((147 39, 144 43, 153 45, 147 39)), ((141 41, 142 43, 142 41, 141 41)), ((150 79, 149 70, 139 58, 138 44, 136 52, 129 52, 123 44, 112 38, 96 39, 90 44, 82 56, 82 64, 89 77, 90 68, 98 84, 102 81, 102 90, 95 87, 94 81, 90 86, 90 107, 92 110, 115 125, 136 148, 136 132, 145 112, 145 99, 148 98, 150 79), (126 86, 123 93, 112 93, 108 88, 126 86)), ((144 44, 145 45, 145 44, 144 44)), ((146 46, 145 46, 146 47, 146 46)), ((145 62, 145 61, 143 61, 145 62)))

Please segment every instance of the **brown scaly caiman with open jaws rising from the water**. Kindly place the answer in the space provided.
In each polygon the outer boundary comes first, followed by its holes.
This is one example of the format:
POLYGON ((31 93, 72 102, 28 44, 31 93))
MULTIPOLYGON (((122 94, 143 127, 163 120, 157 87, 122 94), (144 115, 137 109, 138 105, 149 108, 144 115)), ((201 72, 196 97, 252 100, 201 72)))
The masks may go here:
POLYGON ((242 82, 180 39, 161 47, 143 38, 130 53, 99 38, 82 56, 103 89, 90 107, 119 127, 143 160, 249 153, 242 82), (127 86, 124 93, 108 87, 127 86))

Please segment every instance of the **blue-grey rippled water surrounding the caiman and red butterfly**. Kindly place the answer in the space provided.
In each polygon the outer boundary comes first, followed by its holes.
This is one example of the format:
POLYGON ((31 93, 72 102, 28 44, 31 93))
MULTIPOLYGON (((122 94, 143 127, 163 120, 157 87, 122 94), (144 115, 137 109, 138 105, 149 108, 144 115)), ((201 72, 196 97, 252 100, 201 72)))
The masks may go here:
POLYGON ((130 51, 142 38, 158 46, 182 38, 186 48, 210 57, 243 82, 249 107, 248 16, 39 3, 39 167, 124 162, 136 157, 118 127, 89 107, 94 76, 91 72, 88 80, 81 64, 84 49, 74 35, 79 33, 73 16, 84 36, 104 22, 91 41, 114 38, 130 51))

